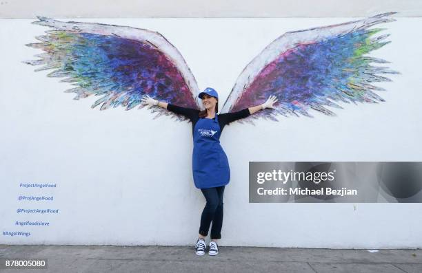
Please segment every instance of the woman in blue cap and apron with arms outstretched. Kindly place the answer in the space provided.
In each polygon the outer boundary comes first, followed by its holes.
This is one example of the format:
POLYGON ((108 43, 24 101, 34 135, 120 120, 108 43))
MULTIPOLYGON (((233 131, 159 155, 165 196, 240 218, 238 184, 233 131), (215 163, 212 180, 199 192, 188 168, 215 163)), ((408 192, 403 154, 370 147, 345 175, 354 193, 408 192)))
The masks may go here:
POLYGON ((205 200, 205 208, 201 215, 199 237, 195 244, 195 252, 202 256, 205 254, 205 240, 212 222, 210 234, 210 249, 208 254, 217 255, 219 248, 217 239, 221 239, 221 226, 223 225, 223 193, 224 187, 230 181, 230 168, 228 159, 220 145, 221 131, 226 124, 246 118, 256 111, 272 108, 277 102, 275 96, 270 96, 262 105, 245 108, 234 113, 217 114, 219 111, 219 95, 217 91, 208 87, 199 94, 205 110, 179 107, 167 102, 160 102, 148 95, 142 99, 147 105, 158 105, 174 113, 186 116, 192 122, 192 135, 194 148, 192 155, 192 169, 194 184, 201 189, 205 200))

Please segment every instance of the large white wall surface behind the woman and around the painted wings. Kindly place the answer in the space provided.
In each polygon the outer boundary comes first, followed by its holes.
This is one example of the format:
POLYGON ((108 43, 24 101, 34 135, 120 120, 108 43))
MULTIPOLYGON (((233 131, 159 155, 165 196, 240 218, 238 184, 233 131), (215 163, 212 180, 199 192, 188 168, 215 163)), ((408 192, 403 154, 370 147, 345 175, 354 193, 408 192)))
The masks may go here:
MULTIPOLYGON (((60 18, 57 18, 60 20, 60 18)), ((243 67, 284 32, 341 23, 336 19, 79 19, 155 30, 181 54, 200 89, 227 98, 243 67)), ((21 61, 40 53, 24 44, 47 28, 33 19, 0 21, 0 231, 28 230, 7 244, 191 245, 205 199, 194 187, 190 123, 152 120, 146 109, 91 109, 70 85, 21 61), (51 190, 20 182, 53 182, 51 190), (19 195, 54 195, 51 203, 19 195), (37 204, 39 204, 37 206, 37 204), (50 204, 50 206, 48 205, 50 204), (59 208, 22 215, 17 208, 59 208), (50 221, 17 227, 14 221, 50 221)), ((421 19, 385 25, 392 43, 371 56, 391 61, 392 83, 376 105, 342 104, 330 118, 281 118, 230 124, 221 144, 231 181, 225 189, 221 245, 306 248, 422 246, 422 204, 249 204, 250 161, 421 161, 421 19)))

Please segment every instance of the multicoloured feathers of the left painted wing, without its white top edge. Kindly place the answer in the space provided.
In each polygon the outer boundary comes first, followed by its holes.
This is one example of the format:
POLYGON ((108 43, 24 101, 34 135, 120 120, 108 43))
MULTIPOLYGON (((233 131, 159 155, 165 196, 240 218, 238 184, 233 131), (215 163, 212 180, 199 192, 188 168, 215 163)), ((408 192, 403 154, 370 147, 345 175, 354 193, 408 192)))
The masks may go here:
MULTIPOLYGON (((119 105, 132 109, 148 94, 183 107, 197 108, 183 75, 174 61, 147 42, 119 36, 52 31, 44 43, 30 44, 48 52, 49 58, 32 61, 55 68, 48 76, 68 76, 79 87, 75 99, 101 96, 92 107, 119 105)), ((70 81, 70 80, 69 80, 70 81)))

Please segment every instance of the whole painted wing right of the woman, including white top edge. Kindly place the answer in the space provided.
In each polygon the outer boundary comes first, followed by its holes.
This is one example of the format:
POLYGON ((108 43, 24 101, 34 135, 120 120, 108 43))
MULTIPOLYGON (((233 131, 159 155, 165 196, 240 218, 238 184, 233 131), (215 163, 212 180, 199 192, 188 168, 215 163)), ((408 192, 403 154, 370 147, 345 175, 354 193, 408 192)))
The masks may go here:
POLYGON ((335 101, 384 101, 374 93, 383 89, 372 83, 390 81, 377 74, 399 72, 370 65, 388 62, 366 54, 390 43, 383 41, 389 35, 376 36, 383 29, 369 28, 395 21, 387 18, 394 13, 283 34, 243 69, 221 113, 260 105, 270 95, 277 96, 275 109, 263 109, 238 121, 278 121, 275 116, 299 116, 298 113, 312 117, 309 109, 335 116, 325 108, 342 108, 335 101))

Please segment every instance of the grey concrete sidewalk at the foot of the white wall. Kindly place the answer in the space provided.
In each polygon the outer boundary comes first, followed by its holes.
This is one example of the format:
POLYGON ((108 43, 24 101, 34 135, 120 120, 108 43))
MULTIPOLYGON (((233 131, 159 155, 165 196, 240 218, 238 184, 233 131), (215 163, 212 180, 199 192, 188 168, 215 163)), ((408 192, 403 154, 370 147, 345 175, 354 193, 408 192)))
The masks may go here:
POLYGON ((422 272, 422 250, 329 250, 193 246, 0 245, 1 259, 47 258, 45 270, 0 272, 422 272))

